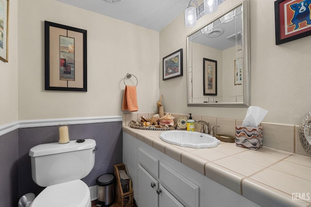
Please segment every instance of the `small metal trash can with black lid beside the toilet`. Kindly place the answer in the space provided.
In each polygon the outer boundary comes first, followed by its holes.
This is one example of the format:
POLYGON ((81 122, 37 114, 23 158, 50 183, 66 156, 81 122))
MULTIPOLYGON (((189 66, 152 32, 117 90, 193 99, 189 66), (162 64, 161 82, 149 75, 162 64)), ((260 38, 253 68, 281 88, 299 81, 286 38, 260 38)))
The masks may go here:
POLYGON ((96 179, 98 186, 98 207, 110 207, 115 202, 115 176, 104 174, 96 179))

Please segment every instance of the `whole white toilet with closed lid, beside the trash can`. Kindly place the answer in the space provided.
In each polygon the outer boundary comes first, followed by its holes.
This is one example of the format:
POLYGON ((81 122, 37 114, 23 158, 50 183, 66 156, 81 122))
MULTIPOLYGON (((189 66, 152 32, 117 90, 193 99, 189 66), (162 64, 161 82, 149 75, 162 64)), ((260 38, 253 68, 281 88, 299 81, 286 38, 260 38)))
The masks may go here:
POLYGON ((29 151, 32 177, 45 188, 30 207, 91 207, 90 191, 80 180, 94 167, 96 142, 46 143, 29 151))

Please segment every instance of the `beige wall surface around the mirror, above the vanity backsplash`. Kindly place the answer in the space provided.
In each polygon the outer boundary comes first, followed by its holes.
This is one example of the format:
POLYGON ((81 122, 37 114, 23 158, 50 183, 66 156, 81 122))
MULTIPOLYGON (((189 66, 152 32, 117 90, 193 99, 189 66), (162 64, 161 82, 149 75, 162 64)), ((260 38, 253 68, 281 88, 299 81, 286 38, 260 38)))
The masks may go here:
MULTIPOLYGON (((308 61, 311 36, 276 46, 274 1, 250 0, 251 105, 269 111, 264 122, 299 125, 304 115, 311 111, 308 61)), ((167 54, 184 49, 183 77, 160 80, 165 111, 223 118, 245 117, 247 108, 187 107, 186 36, 239 2, 226 0, 217 12, 200 18, 194 28, 185 27, 181 14, 160 32, 160 62, 167 54)))

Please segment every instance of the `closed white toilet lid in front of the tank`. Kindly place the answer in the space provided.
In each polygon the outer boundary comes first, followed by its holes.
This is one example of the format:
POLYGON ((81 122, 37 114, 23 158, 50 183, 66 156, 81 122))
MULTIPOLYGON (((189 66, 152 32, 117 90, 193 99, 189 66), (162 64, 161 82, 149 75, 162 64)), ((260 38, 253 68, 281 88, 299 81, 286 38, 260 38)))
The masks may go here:
POLYGON ((48 186, 30 207, 87 207, 90 191, 82 180, 48 186))

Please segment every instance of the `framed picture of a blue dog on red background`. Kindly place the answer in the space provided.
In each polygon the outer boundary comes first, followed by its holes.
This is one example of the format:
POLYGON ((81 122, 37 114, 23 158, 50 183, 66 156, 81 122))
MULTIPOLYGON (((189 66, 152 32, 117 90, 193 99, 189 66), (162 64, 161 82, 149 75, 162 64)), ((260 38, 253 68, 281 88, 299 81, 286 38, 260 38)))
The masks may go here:
POLYGON ((310 0, 276 0, 276 45, 311 35, 310 0))

